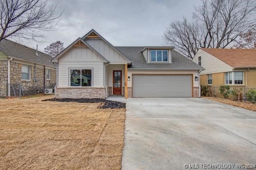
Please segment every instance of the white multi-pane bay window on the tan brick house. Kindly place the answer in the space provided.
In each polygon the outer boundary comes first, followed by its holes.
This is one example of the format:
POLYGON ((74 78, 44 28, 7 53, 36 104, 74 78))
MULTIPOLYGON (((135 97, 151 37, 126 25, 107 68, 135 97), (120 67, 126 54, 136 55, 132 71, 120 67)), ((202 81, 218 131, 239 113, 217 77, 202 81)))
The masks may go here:
POLYGON ((243 85, 243 71, 225 73, 226 85, 243 85))

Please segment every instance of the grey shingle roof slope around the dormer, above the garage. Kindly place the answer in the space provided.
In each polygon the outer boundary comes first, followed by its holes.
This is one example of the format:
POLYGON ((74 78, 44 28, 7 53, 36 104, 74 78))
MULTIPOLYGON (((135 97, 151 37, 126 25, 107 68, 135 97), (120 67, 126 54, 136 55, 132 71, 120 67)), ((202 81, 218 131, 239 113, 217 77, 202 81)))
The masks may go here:
POLYGON ((119 51, 129 56, 132 65, 128 69, 148 69, 148 70, 203 70, 201 66, 189 60, 175 50, 172 50, 173 63, 147 63, 141 50, 144 47, 116 47, 119 51))

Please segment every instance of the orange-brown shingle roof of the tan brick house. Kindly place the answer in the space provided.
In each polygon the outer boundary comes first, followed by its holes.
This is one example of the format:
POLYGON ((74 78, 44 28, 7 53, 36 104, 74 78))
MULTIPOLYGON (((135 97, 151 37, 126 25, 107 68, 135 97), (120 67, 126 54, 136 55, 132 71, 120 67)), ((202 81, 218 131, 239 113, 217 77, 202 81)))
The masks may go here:
POLYGON ((256 68, 256 49, 201 49, 233 68, 256 68))

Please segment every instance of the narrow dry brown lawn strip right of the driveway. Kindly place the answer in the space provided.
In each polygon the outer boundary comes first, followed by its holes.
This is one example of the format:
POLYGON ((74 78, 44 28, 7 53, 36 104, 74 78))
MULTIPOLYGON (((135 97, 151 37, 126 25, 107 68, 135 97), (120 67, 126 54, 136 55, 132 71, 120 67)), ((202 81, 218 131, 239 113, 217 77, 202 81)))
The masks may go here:
POLYGON ((230 104, 230 105, 233 105, 236 107, 241 107, 241 108, 252 110, 252 111, 256 111, 256 104, 252 104, 249 102, 232 101, 229 99, 222 99, 222 98, 218 98, 218 97, 202 97, 202 98, 209 99, 209 100, 216 101, 216 102, 222 102, 225 104, 230 104))

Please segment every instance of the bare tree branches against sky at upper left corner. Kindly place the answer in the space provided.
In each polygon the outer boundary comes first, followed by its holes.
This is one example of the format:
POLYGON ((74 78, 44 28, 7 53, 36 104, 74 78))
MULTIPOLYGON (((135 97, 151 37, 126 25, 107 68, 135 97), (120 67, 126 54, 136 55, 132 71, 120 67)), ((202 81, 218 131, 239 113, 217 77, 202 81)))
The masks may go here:
POLYGON ((7 37, 44 37, 40 31, 56 29, 61 15, 55 16, 56 6, 49 0, 0 0, 0 41, 7 37))

